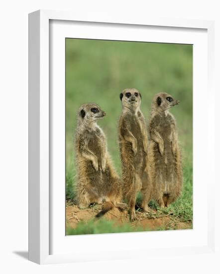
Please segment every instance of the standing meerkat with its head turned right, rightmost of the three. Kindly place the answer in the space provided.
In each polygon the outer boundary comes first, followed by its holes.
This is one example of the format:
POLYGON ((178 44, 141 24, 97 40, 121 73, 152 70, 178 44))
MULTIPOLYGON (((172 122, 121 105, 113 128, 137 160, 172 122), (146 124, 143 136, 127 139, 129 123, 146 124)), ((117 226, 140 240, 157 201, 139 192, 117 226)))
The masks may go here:
POLYGON ((153 184, 152 198, 168 207, 181 194, 182 156, 176 121, 169 109, 179 104, 167 93, 154 96, 148 124, 148 173, 153 184))

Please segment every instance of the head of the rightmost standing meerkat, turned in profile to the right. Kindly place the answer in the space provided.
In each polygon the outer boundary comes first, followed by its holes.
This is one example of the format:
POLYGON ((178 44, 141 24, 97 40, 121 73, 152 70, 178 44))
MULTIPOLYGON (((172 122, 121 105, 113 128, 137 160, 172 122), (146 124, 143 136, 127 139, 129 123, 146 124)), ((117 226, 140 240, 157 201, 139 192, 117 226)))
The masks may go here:
POLYGON ((165 112, 178 105, 179 100, 175 100, 171 95, 165 92, 156 94, 152 102, 152 110, 156 112, 165 112))

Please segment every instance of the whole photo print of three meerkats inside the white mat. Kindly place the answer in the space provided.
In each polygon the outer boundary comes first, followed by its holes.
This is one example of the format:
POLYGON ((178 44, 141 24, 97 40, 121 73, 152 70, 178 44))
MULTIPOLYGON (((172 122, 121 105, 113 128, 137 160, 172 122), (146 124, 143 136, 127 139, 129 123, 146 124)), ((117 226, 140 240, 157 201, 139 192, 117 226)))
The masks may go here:
POLYGON ((66 38, 66 235, 193 228, 193 45, 66 38))

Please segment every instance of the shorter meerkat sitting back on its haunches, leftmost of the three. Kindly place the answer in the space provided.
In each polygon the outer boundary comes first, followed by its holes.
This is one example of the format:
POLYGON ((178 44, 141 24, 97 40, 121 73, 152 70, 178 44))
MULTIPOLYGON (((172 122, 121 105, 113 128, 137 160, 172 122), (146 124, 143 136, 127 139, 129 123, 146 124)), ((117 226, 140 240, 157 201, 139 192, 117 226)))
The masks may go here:
POLYGON ((84 104, 78 112, 75 138, 77 182, 76 194, 80 208, 91 203, 103 204, 102 216, 122 203, 122 182, 107 149, 107 139, 97 121, 106 116, 97 104, 84 104))

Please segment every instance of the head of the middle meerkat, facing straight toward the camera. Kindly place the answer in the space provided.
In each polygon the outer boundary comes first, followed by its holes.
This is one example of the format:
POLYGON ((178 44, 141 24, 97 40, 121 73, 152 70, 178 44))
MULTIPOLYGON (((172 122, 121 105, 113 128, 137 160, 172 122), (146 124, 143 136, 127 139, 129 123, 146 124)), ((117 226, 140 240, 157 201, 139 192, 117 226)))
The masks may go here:
POLYGON ((122 106, 128 109, 137 109, 141 103, 141 94, 136 89, 125 89, 120 93, 122 106))

